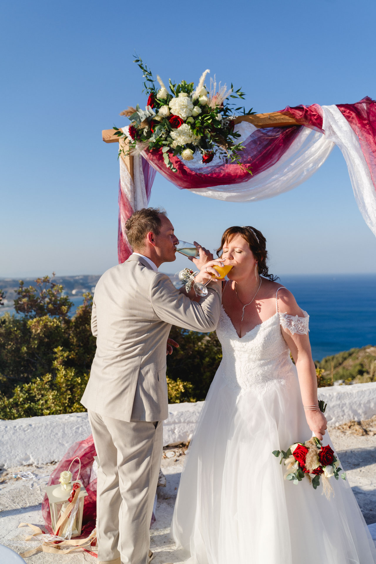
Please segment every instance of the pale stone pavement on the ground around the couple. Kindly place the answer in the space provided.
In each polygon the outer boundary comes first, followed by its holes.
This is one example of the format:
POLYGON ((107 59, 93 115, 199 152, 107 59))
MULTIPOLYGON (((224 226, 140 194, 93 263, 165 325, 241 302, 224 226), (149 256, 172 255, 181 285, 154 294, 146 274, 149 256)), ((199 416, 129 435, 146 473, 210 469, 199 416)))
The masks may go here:
MULTIPOLYGON (((376 431, 376 428, 375 428, 376 431)), ((331 439, 338 452, 343 468, 346 470, 356 499, 368 525, 376 523, 376 435, 355 435, 351 429, 333 429, 331 439)), ((183 563, 179 551, 174 549, 170 539, 170 523, 174 509, 176 491, 183 468, 184 448, 167 447, 167 455, 162 459, 162 470, 166 475, 166 487, 158 488, 156 522, 151 528, 151 549, 154 552, 153 564, 165 562, 183 563), (174 455, 172 455, 172 452, 174 455)), ((38 543, 25 542, 29 529, 17 528, 20 522, 35 525, 43 523, 41 501, 45 486, 55 464, 29 465, 10 468, 0 474, 0 544, 4 544, 15 552, 24 552, 38 543), (32 473, 30 477, 24 473, 32 473), (14 478, 14 475, 23 478, 14 478)), ((376 541, 376 525, 370 527, 376 541)), ((96 558, 87 553, 67 555, 37 553, 26 561, 30 564, 80 564, 91 562, 96 558)))

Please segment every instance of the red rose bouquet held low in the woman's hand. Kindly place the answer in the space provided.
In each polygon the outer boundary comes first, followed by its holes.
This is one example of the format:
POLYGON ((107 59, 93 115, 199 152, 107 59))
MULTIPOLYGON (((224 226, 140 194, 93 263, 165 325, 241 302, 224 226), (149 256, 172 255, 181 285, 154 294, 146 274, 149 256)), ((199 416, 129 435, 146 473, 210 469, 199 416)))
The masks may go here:
MULTIPOLYGON (((323 402, 319 402, 321 411, 323 402)), ((335 456, 333 449, 327 444, 322 446, 317 437, 312 437, 304 443, 291 444, 287 451, 273 451, 273 455, 277 458, 281 457, 280 464, 284 460, 287 468, 285 479, 298 484, 303 478, 307 478, 316 490, 320 485, 320 477, 322 478, 323 493, 329 499, 333 488, 329 483, 329 478, 333 477, 338 480, 339 473, 342 468, 339 467, 339 461, 335 456)), ((342 472, 340 477, 346 480, 346 474, 342 472)))

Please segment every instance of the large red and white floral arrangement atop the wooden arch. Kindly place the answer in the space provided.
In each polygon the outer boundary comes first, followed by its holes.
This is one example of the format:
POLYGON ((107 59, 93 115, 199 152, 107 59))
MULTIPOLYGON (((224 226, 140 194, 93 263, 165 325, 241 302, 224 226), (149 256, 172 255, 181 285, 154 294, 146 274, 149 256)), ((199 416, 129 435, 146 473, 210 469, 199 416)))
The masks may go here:
POLYGON ((146 91, 149 97, 145 109, 136 105, 136 108, 129 107, 121 112, 121 116, 129 118, 131 125, 126 133, 118 127, 113 128, 120 139, 129 139, 129 145, 122 147, 119 155, 122 152, 138 155, 145 150, 161 150, 165 165, 176 172, 171 155, 190 161, 194 153, 200 152, 203 164, 218 156, 225 162, 238 164, 251 174, 250 168, 241 163, 240 153, 244 146, 237 143, 240 134, 234 131, 236 116, 233 112, 242 110, 242 115, 255 112, 252 108, 248 112, 244 107, 233 109, 234 104, 229 104, 227 100, 244 99, 241 89, 234 91, 231 85, 228 90, 220 83, 217 89, 215 77, 210 79, 210 89, 207 89, 205 78, 209 69, 202 73, 196 88, 193 82, 183 80, 174 84, 169 79, 169 90, 157 76, 160 85, 157 89, 151 70, 139 56, 134 62, 143 71, 143 92, 146 91))

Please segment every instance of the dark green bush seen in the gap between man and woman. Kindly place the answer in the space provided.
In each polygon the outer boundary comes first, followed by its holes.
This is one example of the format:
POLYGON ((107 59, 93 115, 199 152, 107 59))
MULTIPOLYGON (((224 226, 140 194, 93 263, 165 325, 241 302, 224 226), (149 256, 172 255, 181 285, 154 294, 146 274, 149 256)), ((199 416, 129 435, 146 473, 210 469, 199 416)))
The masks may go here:
POLYGON ((222 360, 222 348, 216 334, 172 327, 170 338, 180 346, 167 358, 167 376, 176 383, 182 382, 185 387, 185 399, 174 396, 174 402, 204 400, 222 360), (188 389, 187 382, 192 385, 191 389, 188 389))

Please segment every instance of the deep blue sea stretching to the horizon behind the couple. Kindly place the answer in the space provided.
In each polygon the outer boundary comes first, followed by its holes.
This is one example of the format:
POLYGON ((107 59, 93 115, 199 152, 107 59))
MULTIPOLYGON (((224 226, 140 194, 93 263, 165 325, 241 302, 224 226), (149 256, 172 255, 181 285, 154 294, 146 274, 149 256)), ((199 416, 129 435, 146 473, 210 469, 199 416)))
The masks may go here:
MULTIPOLYGON (((281 275, 278 281, 309 314, 313 360, 353 347, 376 346, 376 274, 281 275)), ((70 299, 73 315, 82 296, 70 299)), ((5 311, 14 313, 2 307, 0 315, 5 311)))

